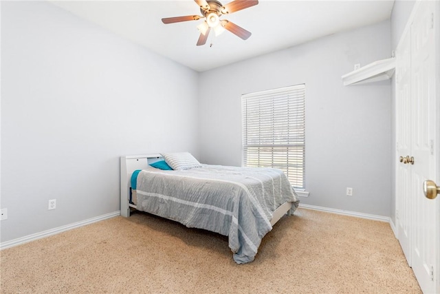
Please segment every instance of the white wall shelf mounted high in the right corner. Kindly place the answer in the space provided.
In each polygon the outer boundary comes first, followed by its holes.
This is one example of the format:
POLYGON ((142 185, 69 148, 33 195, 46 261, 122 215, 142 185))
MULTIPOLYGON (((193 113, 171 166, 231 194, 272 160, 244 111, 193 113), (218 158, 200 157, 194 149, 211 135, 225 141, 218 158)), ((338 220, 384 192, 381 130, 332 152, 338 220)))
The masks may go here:
POLYGON ((342 76, 344 86, 388 80, 394 74, 395 58, 375 61, 342 76))

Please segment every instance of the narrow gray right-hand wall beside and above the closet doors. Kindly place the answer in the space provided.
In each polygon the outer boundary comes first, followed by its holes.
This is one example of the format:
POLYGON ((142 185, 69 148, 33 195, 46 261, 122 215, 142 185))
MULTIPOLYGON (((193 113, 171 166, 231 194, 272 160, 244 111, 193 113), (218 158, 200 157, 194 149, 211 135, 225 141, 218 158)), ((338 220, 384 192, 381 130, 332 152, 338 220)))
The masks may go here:
MULTIPOLYGON (((391 49, 396 50, 399 44, 401 34, 404 32, 408 18, 412 12, 415 1, 410 0, 396 0, 393 6, 393 12, 391 14, 391 49)), ((395 76, 391 85, 391 221, 393 224, 395 221, 395 162, 396 157, 396 136, 395 136, 395 76)))

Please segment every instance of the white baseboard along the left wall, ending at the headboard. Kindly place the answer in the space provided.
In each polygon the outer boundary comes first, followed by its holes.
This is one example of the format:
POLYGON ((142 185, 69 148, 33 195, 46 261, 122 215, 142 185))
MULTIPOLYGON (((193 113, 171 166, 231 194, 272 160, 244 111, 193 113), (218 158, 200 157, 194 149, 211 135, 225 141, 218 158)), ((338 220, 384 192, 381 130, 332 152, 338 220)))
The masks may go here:
POLYGON ((45 237, 49 237, 50 235, 55 235, 58 233, 63 233, 65 231, 69 231, 71 229, 76 229, 79 227, 83 227, 87 224, 92 224, 94 222, 99 222, 100 220, 107 220, 107 218, 114 218, 115 216, 120 216, 121 211, 114 211, 111 213, 107 213, 104 214, 102 216, 97 216, 96 218, 89 218, 88 220, 82 220, 80 222, 74 222, 73 224, 67 224, 65 226, 62 227, 58 227, 58 228, 54 228, 54 229, 50 229, 47 231, 42 231, 40 233, 34 233, 32 235, 27 235, 21 238, 17 238, 14 240, 10 240, 10 241, 6 241, 6 242, 2 242, 0 243, 0 250, 1 249, 7 249, 13 246, 17 246, 17 245, 21 245, 24 243, 28 243, 34 240, 38 240, 41 238, 45 238, 45 237))

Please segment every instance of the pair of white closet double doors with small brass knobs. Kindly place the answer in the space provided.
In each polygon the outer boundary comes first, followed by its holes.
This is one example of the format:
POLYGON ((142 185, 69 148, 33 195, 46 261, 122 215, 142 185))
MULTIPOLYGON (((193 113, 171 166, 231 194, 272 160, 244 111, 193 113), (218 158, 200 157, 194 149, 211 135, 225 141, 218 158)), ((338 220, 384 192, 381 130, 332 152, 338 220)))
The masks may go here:
POLYGON ((438 10, 437 1, 417 1, 396 50, 397 156, 404 159, 396 166, 397 230, 423 293, 440 291, 440 197, 423 195, 423 181, 439 179, 438 10))

